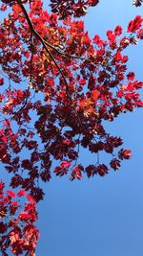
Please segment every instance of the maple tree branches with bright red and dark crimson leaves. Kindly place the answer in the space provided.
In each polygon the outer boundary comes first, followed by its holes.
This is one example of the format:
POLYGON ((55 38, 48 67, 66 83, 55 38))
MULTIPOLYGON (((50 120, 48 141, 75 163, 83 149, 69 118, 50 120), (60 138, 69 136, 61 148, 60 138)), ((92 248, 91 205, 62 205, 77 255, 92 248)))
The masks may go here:
MULTIPOLYGON (((71 180, 103 176, 131 157, 104 121, 143 106, 137 92, 143 82, 128 71, 124 54, 143 39, 143 18, 136 15, 126 35, 118 25, 103 40, 90 38, 84 22, 72 18, 99 1, 51 0, 51 13, 41 0, 1 2, 8 15, 0 27, 0 160, 11 175, 10 187, 21 190, 5 196, 0 183, 0 246, 4 255, 9 247, 15 255, 34 255, 41 181, 50 181, 52 170, 71 180), (82 148, 96 155, 91 165, 78 161, 82 148), (109 164, 100 162, 100 151, 111 155, 109 164), (16 197, 28 199, 23 211, 16 197)), ((141 3, 133 1, 136 7, 141 3)))

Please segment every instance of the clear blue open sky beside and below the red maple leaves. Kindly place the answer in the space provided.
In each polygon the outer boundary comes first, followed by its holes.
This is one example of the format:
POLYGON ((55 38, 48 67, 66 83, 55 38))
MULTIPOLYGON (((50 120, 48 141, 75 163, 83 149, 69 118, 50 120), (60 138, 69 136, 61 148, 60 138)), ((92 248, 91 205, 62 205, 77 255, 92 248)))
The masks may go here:
MULTIPOLYGON (((135 9, 132 0, 100 0, 84 19, 90 35, 105 38, 107 30, 119 24, 126 28, 136 14, 143 14, 143 7, 135 9)), ((143 80, 143 43, 129 53, 130 69, 143 80)), ((133 150, 132 160, 119 172, 72 183, 57 177, 45 185, 46 197, 38 207, 41 239, 36 256, 143 255, 142 116, 143 109, 138 109, 108 126, 133 150)), ((83 153, 81 161, 86 157, 83 153)))

